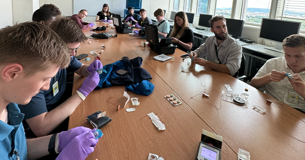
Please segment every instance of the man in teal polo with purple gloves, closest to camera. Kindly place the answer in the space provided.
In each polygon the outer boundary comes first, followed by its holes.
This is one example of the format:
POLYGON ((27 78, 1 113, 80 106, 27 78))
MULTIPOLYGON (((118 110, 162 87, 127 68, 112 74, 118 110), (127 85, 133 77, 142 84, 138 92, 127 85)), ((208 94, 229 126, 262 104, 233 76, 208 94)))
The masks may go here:
POLYGON ((70 62, 65 42, 37 22, 19 23, 0 30, 0 155, 1 159, 37 159, 60 153, 56 160, 84 160, 98 140, 85 127, 33 139, 24 135, 18 104, 27 104, 70 62))

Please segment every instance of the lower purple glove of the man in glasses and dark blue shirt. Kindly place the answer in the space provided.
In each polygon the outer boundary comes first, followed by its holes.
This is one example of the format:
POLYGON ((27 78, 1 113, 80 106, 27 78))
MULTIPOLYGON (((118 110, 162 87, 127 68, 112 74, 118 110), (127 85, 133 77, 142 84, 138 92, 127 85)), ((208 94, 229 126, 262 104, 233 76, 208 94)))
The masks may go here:
POLYGON ((84 96, 88 96, 90 92, 99 84, 99 73, 97 71, 93 71, 83 82, 81 87, 78 89, 79 92, 84 94, 84 96))

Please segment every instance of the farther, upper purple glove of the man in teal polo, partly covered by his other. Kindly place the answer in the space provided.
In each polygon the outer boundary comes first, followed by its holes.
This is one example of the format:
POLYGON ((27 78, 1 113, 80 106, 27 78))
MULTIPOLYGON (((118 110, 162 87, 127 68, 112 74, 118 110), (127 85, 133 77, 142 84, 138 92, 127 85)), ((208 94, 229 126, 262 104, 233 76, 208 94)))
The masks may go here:
POLYGON ((83 132, 92 132, 93 133, 95 130, 96 130, 95 128, 93 130, 91 130, 90 128, 80 126, 80 127, 72 128, 68 131, 60 132, 59 136, 58 136, 58 139, 59 139, 58 151, 61 152, 63 150, 63 148, 65 148, 66 145, 68 143, 70 143, 74 137, 80 135, 81 133, 83 133, 83 132))

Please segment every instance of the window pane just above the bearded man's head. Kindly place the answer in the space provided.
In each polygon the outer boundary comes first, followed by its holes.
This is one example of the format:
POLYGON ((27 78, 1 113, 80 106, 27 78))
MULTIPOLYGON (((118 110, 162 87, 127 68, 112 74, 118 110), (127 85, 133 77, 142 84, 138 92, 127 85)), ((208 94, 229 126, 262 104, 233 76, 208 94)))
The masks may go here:
POLYGON ((217 0, 215 15, 231 18, 233 0, 217 0))

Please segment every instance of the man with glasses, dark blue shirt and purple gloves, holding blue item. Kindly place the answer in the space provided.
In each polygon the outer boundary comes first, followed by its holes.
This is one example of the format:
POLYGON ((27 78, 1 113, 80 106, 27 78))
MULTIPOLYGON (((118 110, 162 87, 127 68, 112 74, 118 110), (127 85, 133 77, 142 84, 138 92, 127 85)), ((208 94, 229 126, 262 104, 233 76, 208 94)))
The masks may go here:
MULTIPOLYGON (((27 124, 24 125, 27 137, 31 130, 37 137, 46 136, 59 125, 61 125, 77 108, 87 95, 99 83, 99 74, 95 71, 102 68, 102 63, 95 60, 91 65, 84 65, 75 58, 80 43, 87 40, 81 28, 70 18, 59 17, 53 21, 50 28, 66 42, 70 49, 70 64, 68 68, 60 69, 50 81, 50 88, 36 94, 27 105, 18 105, 27 124), (66 73, 75 72, 81 76, 88 76, 77 93, 70 98, 63 98, 66 89, 66 73)), ((24 122, 25 123, 25 122, 24 122)), ((65 121, 62 126, 54 132, 67 130, 68 123, 65 121)))

